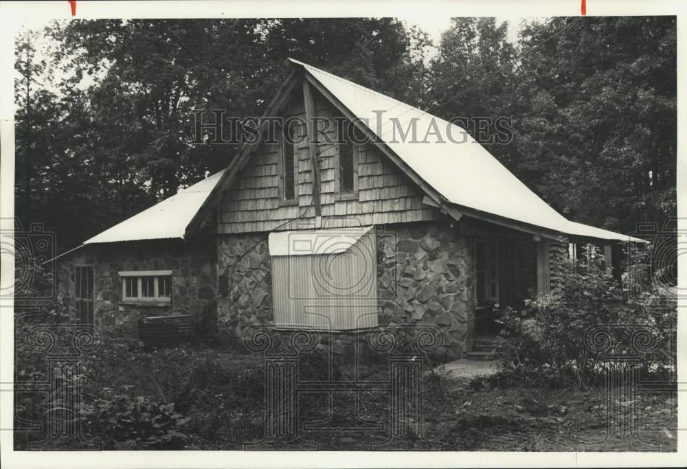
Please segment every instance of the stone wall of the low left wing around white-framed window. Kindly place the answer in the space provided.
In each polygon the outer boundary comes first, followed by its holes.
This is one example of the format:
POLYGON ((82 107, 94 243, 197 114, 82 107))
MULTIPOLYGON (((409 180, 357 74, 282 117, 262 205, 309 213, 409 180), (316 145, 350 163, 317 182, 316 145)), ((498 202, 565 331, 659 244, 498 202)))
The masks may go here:
POLYGON ((135 334, 142 317, 192 314, 203 330, 216 328, 216 261, 212 238, 95 244, 58 259, 58 302, 76 317, 76 266, 93 266, 95 323, 108 334, 135 334), (119 271, 172 270, 172 303, 122 301, 119 271))

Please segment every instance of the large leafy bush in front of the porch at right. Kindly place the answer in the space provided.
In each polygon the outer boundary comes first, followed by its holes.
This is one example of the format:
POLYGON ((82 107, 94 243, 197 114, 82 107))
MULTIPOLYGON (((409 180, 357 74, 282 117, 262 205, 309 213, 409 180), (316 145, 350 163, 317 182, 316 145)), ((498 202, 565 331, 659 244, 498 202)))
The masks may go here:
POLYGON ((638 362, 613 363, 613 370, 639 366, 645 373, 670 372, 675 363, 669 344, 677 324, 677 300, 670 288, 639 281, 640 271, 647 271, 643 267, 631 272, 638 279, 630 292, 598 262, 569 262, 567 273, 550 293, 527 301, 526 310, 506 310, 496 341, 501 380, 510 374, 581 387, 600 383, 609 364, 585 343, 587 331, 595 326, 612 337, 613 354, 633 352, 633 333, 640 329, 651 330, 657 343, 640 354, 638 362))

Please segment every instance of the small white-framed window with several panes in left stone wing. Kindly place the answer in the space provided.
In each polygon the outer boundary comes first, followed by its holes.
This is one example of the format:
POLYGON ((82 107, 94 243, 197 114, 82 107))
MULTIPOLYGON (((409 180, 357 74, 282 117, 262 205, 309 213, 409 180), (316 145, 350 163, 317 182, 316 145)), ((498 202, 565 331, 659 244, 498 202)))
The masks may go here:
POLYGON ((121 271, 124 303, 171 303, 172 271, 121 271))

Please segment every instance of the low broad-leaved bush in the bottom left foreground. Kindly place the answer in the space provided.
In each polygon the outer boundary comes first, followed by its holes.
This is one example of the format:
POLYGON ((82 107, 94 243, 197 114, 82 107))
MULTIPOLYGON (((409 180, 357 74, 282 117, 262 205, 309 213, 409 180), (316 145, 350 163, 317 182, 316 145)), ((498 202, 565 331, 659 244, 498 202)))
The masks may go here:
POLYGON ((104 450, 181 449, 181 433, 187 419, 174 411, 174 404, 159 404, 144 396, 133 396, 123 387, 115 393, 106 389, 104 398, 82 406, 82 417, 95 443, 104 450))

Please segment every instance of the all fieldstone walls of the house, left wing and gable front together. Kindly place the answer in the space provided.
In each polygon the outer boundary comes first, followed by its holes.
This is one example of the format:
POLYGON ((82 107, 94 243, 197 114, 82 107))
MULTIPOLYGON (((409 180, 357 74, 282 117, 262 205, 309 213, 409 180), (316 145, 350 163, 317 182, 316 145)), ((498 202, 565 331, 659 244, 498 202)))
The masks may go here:
MULTIPOLYGON (((436 353, 441 361, 471 350, 469 240, 448 224, 416 222, 377 227, 376 243, 379 324, 398 334, 436 327, 442 336, 436 353)), ((81 265, 93 266, 95 322, 109 334, 135 334, 138 319, 165 314, 192 314, 205 330, 218 327, 238 337, 251 326, 273 321, 267 233, 84 247, 59 263, 58 300, 72 310, 76 266, 81 265), (172 270, 171 305, 122 301, 118 271, 166 269, 172 270)), ((360 340, 345 333, 328 339, 344 345, 360 340)))

